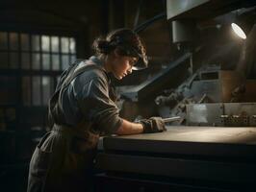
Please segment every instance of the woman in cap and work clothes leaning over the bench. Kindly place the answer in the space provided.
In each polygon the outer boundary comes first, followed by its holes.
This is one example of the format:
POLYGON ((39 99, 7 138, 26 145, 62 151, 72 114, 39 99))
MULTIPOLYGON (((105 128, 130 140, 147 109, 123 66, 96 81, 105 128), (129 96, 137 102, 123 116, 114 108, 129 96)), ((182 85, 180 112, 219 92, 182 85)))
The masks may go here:
POLYGON ((99 135, 163 132, 161 118, 132 123, 118 115, 109 73, 121 80, 147 64, 141 38, 119 29, 93 42, 96 56, 64 71, 50 100, 53 129, 40 140, 30 162, 28 191, 89 191, 99 135))

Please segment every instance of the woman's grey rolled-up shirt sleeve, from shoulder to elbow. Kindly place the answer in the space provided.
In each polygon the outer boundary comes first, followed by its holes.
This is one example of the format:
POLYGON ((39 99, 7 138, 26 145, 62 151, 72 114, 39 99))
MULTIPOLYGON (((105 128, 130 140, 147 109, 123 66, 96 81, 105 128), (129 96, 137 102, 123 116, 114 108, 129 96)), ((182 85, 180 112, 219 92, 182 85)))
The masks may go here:
POLYGON ((122 123, 119 109, 109 97, 109 85, 100 77, 95 77, 84 84, 78 104, 85 117, 95 129, 115 133, 122 123))

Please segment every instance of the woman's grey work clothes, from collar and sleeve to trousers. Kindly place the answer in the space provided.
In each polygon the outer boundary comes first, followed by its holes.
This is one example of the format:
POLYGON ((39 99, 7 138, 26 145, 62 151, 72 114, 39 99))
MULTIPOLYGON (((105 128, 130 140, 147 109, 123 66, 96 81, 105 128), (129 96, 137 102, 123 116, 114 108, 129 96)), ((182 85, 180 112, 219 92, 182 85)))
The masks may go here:
POLYGON ((60 94, 62 122, 55 122, 38 143, 28 192, 89 191, 99 135, 114 133, 122 123, 103 63, 90 57, 76 67, 88 63, 96 67, 79 74, 60 94))

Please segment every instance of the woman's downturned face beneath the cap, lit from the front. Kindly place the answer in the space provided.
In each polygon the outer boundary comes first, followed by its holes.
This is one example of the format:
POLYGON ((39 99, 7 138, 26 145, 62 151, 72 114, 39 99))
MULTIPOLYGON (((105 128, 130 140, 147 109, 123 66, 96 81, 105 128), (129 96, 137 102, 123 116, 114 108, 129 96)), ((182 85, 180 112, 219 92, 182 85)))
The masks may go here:
POLYGON ((128 74, 131 74, 133 65, 137 62, 137 58, 128 56, 115 56, 112 62, 112 73, 115 78, 121 80, 128 74))

